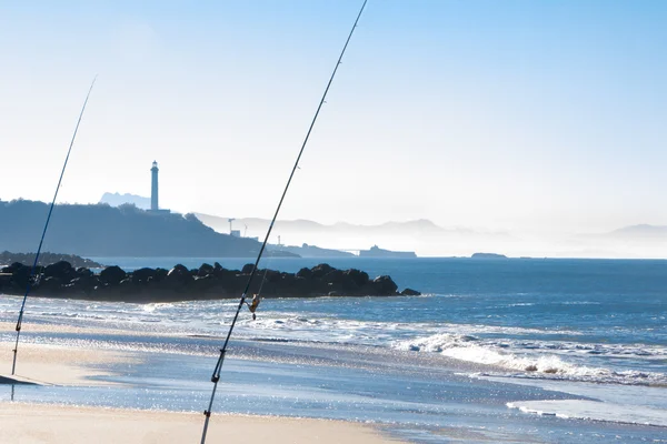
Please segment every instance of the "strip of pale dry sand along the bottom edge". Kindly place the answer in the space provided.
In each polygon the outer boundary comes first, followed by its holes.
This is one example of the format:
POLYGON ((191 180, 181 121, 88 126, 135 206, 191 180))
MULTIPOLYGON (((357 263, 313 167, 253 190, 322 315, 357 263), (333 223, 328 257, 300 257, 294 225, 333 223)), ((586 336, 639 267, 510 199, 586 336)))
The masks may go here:
MULTIPOLYGON (((0 404, 2 443, 193 443, 203 415, 21 403, 0 404)), ((369 426, 326 420, 213 415, 210 442, 397 443, 369 426)))

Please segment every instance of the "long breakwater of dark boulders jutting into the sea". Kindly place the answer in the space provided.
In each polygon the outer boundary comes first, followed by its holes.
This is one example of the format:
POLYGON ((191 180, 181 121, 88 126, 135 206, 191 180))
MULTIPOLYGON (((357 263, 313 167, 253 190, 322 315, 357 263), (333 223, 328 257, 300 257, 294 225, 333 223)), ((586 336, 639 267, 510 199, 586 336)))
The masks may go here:
MULTIPOLYGON (((219 263, 188 270, 183 265, 166 269, 138 269, 126 272, 107 266, 100 273, 74 269, 69 262, 38 268, 30 294, 44 297, 84 299, 122 302, 175 302, 239 297, 252 264, 227 270, 219 263)), ((22 295, 30 279, 30 266, 13 263, 0 270, 0 293, 22 295)), ((420 293, 398 286, 389 276, 370 279, 360 270, 338 270, 328 264, 301 269, 297 273, 258 270, 249 295, 262 285, 262 297, 397 296, 420 293), (263 284, 262 284, 263 282, 263 284)))

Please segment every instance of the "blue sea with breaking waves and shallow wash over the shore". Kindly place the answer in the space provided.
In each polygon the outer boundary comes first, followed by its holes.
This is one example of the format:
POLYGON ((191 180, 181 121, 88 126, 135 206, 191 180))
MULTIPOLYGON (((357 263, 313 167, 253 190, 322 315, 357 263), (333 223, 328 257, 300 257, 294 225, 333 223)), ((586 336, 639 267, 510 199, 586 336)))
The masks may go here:
MULTIPOLYGON (((126 270, 216 261, 94 260, 126 270)), ((228 269, 249 262, 217 261, 228 269)), ((667 443, 667 261, 346 258, 260 265, 296 272, 321 262, 387 274, 422 295, 263 299, 255 321, 243 310, 213 415, 362 422, 412 443, 667 443)), ((3 295, 0 321, 16 322, 19 305, 3 295)), ((103 369, 110 375, 97 377, 118 383, 111 387, 16 386, 10 394, 1 386, 0 402, 202 412, 237 306, 29 297, 22 341, 138 359, 103 369), (39 333, 30 324, 94 330, 39 333)))

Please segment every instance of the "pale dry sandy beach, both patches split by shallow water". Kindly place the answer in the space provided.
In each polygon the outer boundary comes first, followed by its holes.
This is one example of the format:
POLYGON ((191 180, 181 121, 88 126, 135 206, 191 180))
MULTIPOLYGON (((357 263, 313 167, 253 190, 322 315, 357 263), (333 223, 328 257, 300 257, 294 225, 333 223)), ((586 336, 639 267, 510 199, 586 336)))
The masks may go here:
MULTIPOLYGON (((20 382, 91 386, 109 385, 91 376, 104 375, 97 366, 132 363, 131 353, 22 343, 17 376, 9 375, 13 343, 1 342, 0 387, 20 382)), ((112 390, 112 389, 110 389, 112 390)), ((203 415, 160 411, 81 407, 21 402, 0 403, 1 443, 186 443, 199 442, 203 415)), ((213 414, 211 442, 231 443, 396 443, 371 426, 328 420, 213 414)))

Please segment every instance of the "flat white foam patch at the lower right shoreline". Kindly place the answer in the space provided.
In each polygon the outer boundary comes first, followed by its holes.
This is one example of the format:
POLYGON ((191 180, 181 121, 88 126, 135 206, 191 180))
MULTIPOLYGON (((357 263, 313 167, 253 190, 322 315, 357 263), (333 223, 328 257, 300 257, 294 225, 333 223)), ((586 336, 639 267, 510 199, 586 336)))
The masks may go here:
POLYGON ((550 400, 517 401, 507 403, 507 406, 537 415, 667 427, 667 410, 641 405, 630 406, 587 400, 550 400))

